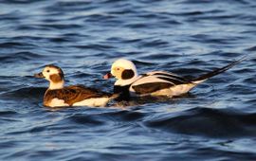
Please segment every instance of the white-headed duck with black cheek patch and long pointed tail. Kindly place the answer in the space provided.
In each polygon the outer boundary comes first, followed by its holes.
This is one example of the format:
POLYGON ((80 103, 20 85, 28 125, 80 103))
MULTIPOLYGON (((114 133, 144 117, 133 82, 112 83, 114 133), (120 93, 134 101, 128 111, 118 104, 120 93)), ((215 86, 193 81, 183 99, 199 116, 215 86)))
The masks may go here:
POLYGON ((196 79, 187 80, 173 73, 153 71, 137 74, 137 67, 128 60, 119 59, 111 66, 111 72, 103 78, 115 77, 114 93, 119 93, 118 100, 128 100, 130 96, 167 96, 174 97, 188 93, 197 84, 218 75, 244 59, 229 63, 196 79))

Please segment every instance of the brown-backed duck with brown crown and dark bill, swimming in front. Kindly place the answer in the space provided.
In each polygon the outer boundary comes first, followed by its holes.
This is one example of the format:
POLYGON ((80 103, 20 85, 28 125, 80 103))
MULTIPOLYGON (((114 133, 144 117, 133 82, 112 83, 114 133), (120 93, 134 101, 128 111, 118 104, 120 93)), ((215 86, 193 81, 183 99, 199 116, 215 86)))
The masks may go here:
POLYGON ((47 107, 63 106, 105 106, 115 95, 101 92, 82 85, 64 86, 64 72, 55 65, 46 65, 45 69, 34 75, 49 81, 49 87, 44 96, 47 107))

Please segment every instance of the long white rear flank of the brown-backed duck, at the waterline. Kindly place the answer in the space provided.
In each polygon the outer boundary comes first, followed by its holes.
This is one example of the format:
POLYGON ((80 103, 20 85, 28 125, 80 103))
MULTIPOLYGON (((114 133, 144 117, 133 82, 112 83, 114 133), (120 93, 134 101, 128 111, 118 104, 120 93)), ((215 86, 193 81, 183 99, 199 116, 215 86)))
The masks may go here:
POLYGON ((90 106, 90 107, 102 107, 106 106, 110 98, 87 98, 82 101, 76 102, 73 106, 90 106))

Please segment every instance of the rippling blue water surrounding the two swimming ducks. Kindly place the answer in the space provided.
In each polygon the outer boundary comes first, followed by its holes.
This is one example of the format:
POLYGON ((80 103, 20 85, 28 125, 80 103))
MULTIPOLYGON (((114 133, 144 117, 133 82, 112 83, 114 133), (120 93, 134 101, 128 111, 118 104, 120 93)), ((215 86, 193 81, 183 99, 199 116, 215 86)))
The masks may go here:
POLYGON ((0 160, 256 160, 256 1, 1 0, 0 160), (119 57, 139 73, 196 77, 181 98, 49 109, 48 63, 111 92, 119 57))

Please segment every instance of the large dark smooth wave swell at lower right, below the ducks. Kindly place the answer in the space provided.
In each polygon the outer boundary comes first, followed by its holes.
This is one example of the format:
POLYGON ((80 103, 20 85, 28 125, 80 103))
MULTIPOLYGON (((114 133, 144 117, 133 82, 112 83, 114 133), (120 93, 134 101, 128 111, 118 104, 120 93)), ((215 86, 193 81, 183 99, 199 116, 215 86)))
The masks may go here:
POLYGON ((210 137, 246 137, 256 134, 256 114, 199 107, 179 115, 157 117, 145 124, 167 132, 210 137))

